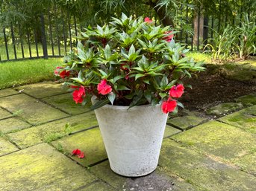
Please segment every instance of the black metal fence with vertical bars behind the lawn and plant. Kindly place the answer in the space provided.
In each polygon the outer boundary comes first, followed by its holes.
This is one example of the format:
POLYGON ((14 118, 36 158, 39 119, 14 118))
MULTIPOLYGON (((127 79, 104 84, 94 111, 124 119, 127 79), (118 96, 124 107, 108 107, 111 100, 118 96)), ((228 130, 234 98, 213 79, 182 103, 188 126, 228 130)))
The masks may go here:
MULTIPOLYGON (((175 36, 191 50, 200 51, 207 39, 213 39, 213 30, 234 24, 236 20, 225 16, 193 16, 191 7, 181 7, 181 23, 175 36)), ((34 24, 22 26, 10 23, 0 31, 0 62, 13 59, 34 59, 64 56, 76 45, 82 26, 69 11, 54 5, 34 18, 34 24)))

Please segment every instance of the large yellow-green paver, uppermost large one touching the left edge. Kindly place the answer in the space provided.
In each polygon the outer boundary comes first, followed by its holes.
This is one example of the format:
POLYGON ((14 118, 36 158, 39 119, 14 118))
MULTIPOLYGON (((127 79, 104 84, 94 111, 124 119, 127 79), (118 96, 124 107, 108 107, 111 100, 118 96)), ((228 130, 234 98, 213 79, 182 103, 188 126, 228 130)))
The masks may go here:
POLYGON ((0 106, 25 118, 34 125, 68 116, 68 114, 25 94, 2 97, 0 98, 0 106))

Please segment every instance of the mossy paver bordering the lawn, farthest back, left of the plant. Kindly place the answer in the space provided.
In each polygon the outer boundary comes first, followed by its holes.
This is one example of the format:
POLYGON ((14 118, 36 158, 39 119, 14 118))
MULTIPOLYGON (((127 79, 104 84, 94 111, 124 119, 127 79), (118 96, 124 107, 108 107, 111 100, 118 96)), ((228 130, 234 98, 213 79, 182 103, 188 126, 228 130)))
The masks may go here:
POLYGON ((67 92, 67 89, 64 88, 63 85, 55 82, 40 82, 23 85, 18 87, 17 89, 37 98, 49 97, 67 92))

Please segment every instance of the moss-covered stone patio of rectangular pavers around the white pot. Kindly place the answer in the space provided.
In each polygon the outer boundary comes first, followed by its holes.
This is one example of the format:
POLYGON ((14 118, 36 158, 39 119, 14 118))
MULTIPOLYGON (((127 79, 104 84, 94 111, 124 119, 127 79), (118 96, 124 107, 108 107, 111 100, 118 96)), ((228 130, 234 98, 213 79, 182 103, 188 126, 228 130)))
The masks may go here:
POLYGON ((0 190, 255 191, 255 100, 169 119, 157 169, 125 178, 110 170, 93 111, 60 84, 0 90, 0 190))

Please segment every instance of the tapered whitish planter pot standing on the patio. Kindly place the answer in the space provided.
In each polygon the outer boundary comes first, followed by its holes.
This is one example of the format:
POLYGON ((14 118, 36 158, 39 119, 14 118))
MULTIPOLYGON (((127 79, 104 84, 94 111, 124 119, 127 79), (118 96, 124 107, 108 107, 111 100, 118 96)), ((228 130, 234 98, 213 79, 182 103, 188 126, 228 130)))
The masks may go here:
POLYGON ((160 105, 105 105, 95 113, 113 172, 137 177, 156 169, 168 117, 160 105))

